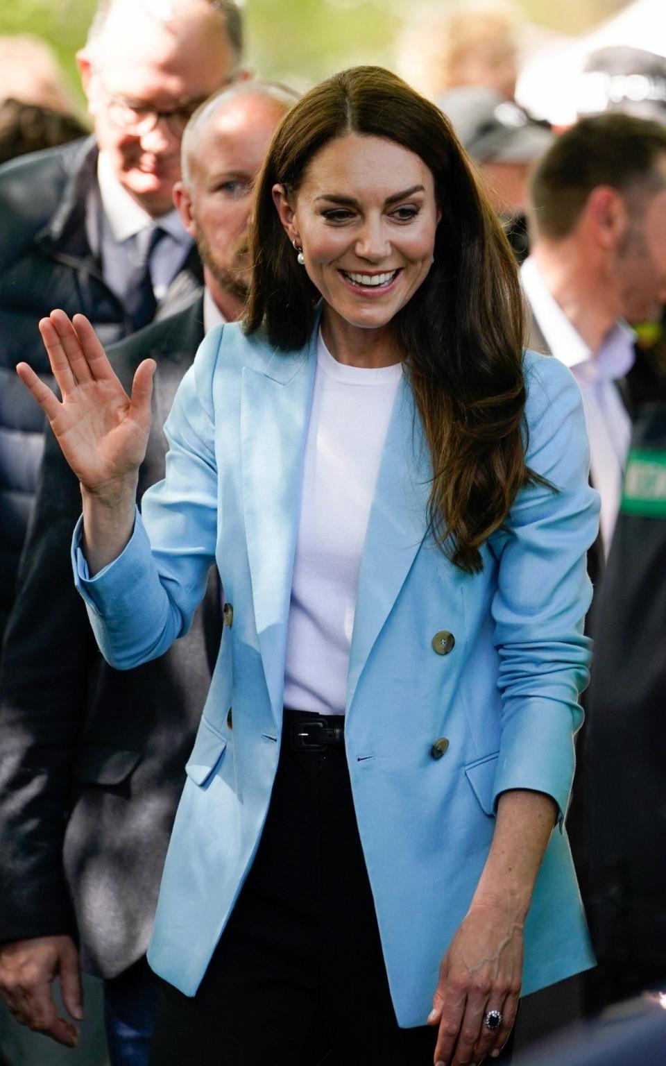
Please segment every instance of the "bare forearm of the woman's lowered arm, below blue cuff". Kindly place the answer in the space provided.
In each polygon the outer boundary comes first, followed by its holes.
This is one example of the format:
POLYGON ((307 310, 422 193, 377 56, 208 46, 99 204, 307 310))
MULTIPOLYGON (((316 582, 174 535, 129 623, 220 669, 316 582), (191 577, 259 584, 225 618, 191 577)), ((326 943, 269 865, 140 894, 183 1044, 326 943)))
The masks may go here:
POLYGON ((556 818, 557 805, 545 792, 514 789, 501 794, 492 844, 472 907, 505 907, 524 920, 556 818))

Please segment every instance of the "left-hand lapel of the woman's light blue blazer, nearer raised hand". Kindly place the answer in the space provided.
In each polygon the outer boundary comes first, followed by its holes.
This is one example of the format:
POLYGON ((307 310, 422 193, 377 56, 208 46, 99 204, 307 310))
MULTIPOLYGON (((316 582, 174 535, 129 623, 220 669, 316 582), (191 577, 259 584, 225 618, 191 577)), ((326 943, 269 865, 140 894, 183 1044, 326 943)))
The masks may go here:
POLYGON ((299 353, 243 368, 243 512, 257 634, 279 725, 291 583, 300 514, 303 455, 316 369, 316 335, 299 353))

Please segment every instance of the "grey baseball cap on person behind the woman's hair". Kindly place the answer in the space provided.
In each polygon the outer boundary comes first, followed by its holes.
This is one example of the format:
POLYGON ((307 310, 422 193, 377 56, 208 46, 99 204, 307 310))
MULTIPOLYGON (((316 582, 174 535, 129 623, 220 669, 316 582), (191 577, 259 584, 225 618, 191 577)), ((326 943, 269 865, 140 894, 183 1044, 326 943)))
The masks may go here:
POLYGON ((513 100, 483 85, 464 85, 435 100, 477 163, 529 163, 552 144, 554 134, 513 100))

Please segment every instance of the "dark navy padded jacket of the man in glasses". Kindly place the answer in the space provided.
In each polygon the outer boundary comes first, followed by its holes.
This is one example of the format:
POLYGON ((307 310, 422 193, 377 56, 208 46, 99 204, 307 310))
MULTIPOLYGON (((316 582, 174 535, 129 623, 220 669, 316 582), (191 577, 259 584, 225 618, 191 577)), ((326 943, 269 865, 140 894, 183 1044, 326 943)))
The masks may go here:
MULTIPOLYGON (((104 345, 132 332, 87 240, 97 155, 91 138, 0 167, 0 641, 44 447, 44 418, 16 364, 25 359, 53 384, 37 322, 54 307, 86 314, 104 345)), ((200 284, 193 248, 159 313, 180 310, 200 284)))

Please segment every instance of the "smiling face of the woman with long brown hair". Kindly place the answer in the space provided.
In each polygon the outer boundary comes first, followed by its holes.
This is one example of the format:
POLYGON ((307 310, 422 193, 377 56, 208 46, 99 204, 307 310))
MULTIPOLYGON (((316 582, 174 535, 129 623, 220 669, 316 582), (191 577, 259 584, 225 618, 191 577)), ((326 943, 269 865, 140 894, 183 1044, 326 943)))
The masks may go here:
POLYGON ((388 325, 431 269, 440 219, 433 174, 393 141, 336 138, 310 161, 293 203, 281 185, 273 195, 329 326, 388 325))

